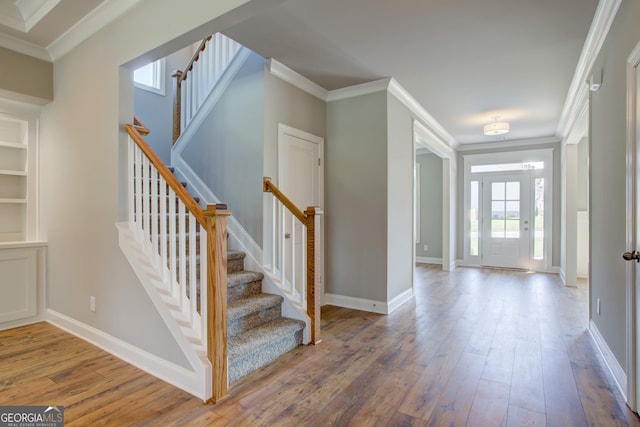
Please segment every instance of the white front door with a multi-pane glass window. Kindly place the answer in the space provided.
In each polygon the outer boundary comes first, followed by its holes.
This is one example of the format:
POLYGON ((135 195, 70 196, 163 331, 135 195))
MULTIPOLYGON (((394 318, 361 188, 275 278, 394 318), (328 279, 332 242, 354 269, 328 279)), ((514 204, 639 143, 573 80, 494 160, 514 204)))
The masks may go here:
POLYGON ((528 174, 485 175, 482 187, 482 265, 528 269, 528 174))

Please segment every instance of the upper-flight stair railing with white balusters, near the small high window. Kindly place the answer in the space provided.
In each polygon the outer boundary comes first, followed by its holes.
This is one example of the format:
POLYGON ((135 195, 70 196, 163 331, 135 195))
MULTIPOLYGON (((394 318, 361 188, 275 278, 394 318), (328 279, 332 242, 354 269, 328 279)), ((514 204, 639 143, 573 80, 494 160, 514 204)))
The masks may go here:
POLYGON ((172 73, 173 143, 189 125, 242 45, 216 33, 200 43, 184 71, 172 73))

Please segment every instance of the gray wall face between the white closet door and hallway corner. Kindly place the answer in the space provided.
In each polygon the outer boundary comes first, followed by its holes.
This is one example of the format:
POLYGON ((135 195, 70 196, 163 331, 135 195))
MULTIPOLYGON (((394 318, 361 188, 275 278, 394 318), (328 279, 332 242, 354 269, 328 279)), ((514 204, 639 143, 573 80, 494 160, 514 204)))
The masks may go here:
POLYGON ((387 300, 387 92, 327 104, 325 291, 387 300))

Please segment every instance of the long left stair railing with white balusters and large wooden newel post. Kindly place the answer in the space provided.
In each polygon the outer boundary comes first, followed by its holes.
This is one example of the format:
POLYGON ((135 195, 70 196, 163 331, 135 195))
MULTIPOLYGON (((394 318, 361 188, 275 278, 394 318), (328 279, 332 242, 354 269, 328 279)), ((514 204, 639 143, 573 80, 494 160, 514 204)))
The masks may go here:
POLYGON ((212 365, 211 401, 228 395, 226 205, 202 209, 140 134, 139 120, 126 125, 128 224, 157 265, 160 291, 190 324, 194 345, 205 343, 212 365), (177 219, 176 219, 177 218, 177 219), (202 262, 198 260, 202 256, 202 262), (206 282, 200 286, 201 278, 206 282))

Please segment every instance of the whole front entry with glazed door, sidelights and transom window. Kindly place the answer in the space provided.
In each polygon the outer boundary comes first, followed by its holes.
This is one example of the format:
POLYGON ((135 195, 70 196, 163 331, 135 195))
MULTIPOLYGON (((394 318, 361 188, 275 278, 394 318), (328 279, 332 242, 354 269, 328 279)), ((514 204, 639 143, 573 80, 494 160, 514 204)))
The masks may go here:
POLYGON ((464 156, 464 264, 549 271, 553 152, 464 156))

